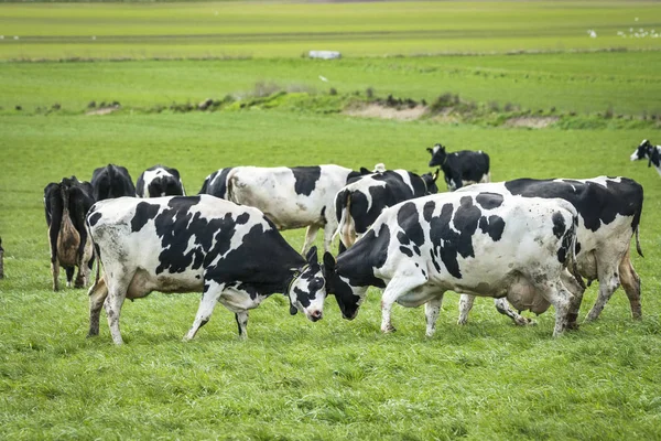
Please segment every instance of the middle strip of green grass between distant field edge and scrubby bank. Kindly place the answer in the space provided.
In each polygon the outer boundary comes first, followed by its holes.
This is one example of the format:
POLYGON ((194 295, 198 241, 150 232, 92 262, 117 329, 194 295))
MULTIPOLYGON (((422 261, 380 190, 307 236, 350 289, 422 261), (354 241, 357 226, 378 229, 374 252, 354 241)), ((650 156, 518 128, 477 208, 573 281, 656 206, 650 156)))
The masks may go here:
MULTIPOLYGON (((661 26, 660 26, 661 28, 661 26)), ((339 94, 393 94, 432 101, 452 92, 465 99, 522 108, 640 116, 661 114, 661 57, 655 53, 438 56, 422 58, 0 63, 0 107, 25 112, 118 100, 151 108, 246 96, 257 83, 339 94), (328 79, 322 82, 319 75, 328 79)))

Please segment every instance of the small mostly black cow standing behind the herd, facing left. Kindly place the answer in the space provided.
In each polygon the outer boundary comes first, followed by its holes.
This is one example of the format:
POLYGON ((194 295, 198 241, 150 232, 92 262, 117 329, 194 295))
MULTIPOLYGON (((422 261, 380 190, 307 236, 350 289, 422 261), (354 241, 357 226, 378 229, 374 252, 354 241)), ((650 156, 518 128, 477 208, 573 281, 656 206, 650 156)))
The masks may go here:
POLYGON ((489 155, 480 151, 462 150, 448 153, 445 147, 436 144, 427 148, 432 154, 430 166, 440 166, 451 192, 465 185, 491 182, 489 155))

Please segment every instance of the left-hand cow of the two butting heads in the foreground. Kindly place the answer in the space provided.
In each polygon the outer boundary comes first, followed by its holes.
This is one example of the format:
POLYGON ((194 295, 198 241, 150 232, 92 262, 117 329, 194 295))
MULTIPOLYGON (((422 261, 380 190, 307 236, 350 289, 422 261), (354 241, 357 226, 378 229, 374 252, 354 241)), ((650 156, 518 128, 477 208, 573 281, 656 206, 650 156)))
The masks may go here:
POLYGON ((248 310, 275 292, 289 297, 292 314, 322 319, 326 292, 316 247, 304 259, 257 208, 208 195, 120 197, 95 204, 86 222, 105 270, 89 290, 90 336, 98 335, 105 305, 112 341, 121 344, 124 299, 154 290, 203 292, 184 340, 209 321, 218 301, 246 337, 248 310))

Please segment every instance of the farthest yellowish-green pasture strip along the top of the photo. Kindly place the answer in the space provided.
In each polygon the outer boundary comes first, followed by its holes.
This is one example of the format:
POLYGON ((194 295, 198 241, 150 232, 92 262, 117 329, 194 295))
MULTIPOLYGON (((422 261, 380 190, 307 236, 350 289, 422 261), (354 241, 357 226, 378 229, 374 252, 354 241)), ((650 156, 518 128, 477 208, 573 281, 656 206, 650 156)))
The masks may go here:
POLYGON ((661 32, 661 9, 648 1, 7 3, 0 30, 0 60, 659 50, 651 31, 661 32))

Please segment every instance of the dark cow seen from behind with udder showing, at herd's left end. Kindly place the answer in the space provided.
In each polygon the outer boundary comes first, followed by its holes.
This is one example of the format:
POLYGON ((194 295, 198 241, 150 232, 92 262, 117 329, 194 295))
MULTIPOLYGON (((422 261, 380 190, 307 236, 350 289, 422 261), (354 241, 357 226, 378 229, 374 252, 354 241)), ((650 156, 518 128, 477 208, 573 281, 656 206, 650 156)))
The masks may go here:
POLYGON ((44 187, 44 209, 51 247, 53 291, 59 290, 59 267, 66 271, 66 286, 71 288, 76 267, 75 288, 89 281, 94 265, 91 241, 85 229, 85 215, 94 204, 93 189, 76 176, 64 178, 44 187))

